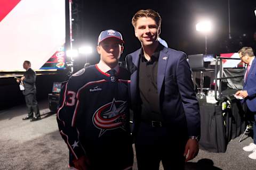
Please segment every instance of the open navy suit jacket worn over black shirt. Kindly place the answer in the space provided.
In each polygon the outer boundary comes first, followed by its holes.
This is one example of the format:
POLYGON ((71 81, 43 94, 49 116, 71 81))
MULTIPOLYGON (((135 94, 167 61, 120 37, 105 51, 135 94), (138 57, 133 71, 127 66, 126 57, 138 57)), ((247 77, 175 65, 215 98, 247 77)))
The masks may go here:
MULTIPOLYGON (((134 115, 140 114, 138 86, 140 53, 142 49, 126 56, 126 66, 131 73, 131 104, 134 115), (137 112, 137 113, 136 113, 137 112)), ((158 60, 157 90, 163 122, 167 125, 186 128, 188 135, 200 135, 199 105, 191 79, 187 56, 183 52, 164 47, 158 60)))

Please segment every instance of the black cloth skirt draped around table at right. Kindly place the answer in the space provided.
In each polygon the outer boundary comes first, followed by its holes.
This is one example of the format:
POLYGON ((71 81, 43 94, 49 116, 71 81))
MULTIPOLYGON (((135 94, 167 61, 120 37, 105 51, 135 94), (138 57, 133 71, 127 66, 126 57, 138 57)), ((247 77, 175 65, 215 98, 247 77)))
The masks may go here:
POLYGON ((225 152, 228 142, 244 132, 245 109, 238 100, 230 101, 222 111, 219 105, 199 101, 201 113, 201 140, 199 148, 209 152, 225 152))

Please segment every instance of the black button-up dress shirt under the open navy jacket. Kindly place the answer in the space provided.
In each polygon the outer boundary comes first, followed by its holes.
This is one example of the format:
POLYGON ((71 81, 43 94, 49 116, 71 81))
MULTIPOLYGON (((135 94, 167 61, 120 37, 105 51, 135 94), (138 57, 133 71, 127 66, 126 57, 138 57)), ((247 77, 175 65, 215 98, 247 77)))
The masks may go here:
POLYGON ((162 121, 157 92, 157 69, 160 51, 163 49, 158 45, 150 60, 147 61, 141 48, 139 65, 139 90, 141 97, 141 120, 162 121))

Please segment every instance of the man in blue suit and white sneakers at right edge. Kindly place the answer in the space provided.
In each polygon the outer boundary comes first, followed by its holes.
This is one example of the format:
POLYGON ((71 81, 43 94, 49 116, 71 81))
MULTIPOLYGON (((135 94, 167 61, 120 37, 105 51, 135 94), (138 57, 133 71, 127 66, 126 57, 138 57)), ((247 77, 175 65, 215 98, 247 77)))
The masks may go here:
MULTIPOLYGON (((238 51, 241 60, 247 64, 247 69, 244 75, 243 90, 236 92, 236 95, 242 96, 247 105, 248 115, 254 115, 256 120, 256 61, 251 47, 243 47, 238 51)), ((256 122, 253 122, 253 143, 249 146, 243 147, 244 151, 252 152, 249 158, 256 159, 256 122)))

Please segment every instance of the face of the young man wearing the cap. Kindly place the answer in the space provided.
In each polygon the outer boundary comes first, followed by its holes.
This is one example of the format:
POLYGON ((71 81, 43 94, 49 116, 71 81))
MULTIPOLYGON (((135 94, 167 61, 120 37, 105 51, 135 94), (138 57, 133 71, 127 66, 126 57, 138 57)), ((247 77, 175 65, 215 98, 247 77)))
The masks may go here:
POLYGON ((100 60, 110 68, 114 68, 118 64, 123 49, 124 47, 121 46, 121 41, 113 37, 103 40, 99 46, 97 46, 100 60))

